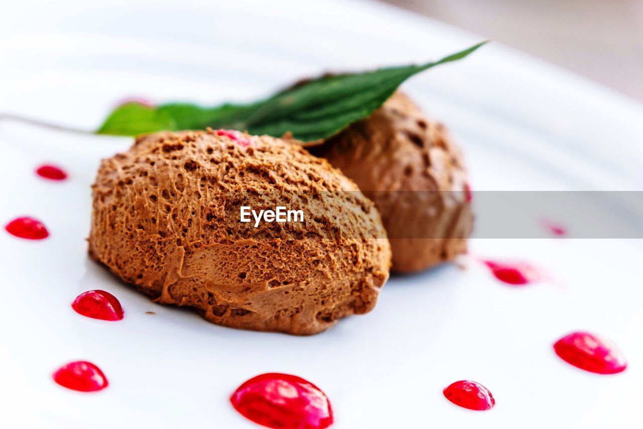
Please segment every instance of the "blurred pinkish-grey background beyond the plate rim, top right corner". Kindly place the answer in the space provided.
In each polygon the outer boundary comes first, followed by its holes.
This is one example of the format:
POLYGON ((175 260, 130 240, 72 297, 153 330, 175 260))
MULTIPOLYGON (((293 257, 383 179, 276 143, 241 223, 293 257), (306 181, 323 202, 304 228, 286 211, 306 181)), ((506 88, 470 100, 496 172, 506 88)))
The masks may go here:
POLYGON ((643 101, 642 0, 379 0, 503 42, 643 101))

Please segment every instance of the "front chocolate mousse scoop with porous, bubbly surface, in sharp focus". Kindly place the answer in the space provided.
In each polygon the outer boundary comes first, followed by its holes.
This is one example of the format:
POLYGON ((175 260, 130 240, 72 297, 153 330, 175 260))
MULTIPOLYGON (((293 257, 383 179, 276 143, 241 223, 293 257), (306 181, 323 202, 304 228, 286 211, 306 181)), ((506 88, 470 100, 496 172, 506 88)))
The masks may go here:
POLYGON ((219 325, 314 334, 376 304, 390 246, 358 187, 294 141, 159 132, 103 160, 89 254, 161 304, 219 325), (287 206, 303 222, 240 222, 287 206))

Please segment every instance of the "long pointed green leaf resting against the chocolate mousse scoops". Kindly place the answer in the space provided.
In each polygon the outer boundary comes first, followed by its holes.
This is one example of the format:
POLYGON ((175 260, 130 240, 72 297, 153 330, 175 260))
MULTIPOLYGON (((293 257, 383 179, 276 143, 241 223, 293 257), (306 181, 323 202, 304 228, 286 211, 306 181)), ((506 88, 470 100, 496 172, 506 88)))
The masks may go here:
POLYGON ((301 141, 324 140, 351 123, 367 118, 393 95, 404 80, 439 64, 463 59, 485 43, 421 65, 324 75, 246 105, 201 107, 172 103, 150 108, 126 104, 111 113, 96 132, 136 135, 165 129, 212 127, 275 137, 291 132, 301 141))

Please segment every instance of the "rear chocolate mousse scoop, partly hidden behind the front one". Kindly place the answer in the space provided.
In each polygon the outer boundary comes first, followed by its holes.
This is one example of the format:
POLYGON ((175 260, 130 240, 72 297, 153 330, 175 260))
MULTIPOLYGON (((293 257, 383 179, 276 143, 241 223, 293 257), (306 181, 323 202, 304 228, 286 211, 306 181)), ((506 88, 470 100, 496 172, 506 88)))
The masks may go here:
POLYGON ((473 215, 460 152, 444 126, 402 93, 312 153, 374 201, 394 271, 419 271, 466 252, 473 215))

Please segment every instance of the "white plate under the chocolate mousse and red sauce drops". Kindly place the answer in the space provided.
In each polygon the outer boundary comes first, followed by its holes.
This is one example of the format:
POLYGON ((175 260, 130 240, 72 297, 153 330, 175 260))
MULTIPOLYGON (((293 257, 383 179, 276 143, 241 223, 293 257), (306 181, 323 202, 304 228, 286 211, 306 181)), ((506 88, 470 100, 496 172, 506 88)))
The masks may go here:
MULTIPOLYGON (((10 7, 0 111, 87 129, 125 96, 246 100, 325 69, 433 59, 480 39, 362 1, 10 7)), ((491 45, 406 90, 449 125, 477 190, 642 187, 643 109, 565 71, 491 45)), ((51 232, 42 242, 0 234, 8 427, 249 427, 228 396, 273 371, 323 388, 337 428, 631 427, 638 418, 639 240, 476 239, 474 253, 529 260, 556 281, 510 288, 469 262, 392 278, 372 313, 316 336, 226 329, 152 304, 87 259, 89 184, 98 160, 130 143, 0 123, 0 222, 33 215, 51 232), (37 178, 42 161, 71 177, 37 178), (114 293, 125 319, 74 313, 69 304, 87 289, 114 293), (597 376, 559 360, 552 343, 576 329, 611 338, 628 369, 597 376), (109 388, 77 394, 51 381, 57 365, 81 358, 104 369, 109 388), (442 388, 458 379, 487 386, 496 408, 446 401, 442 388)))

